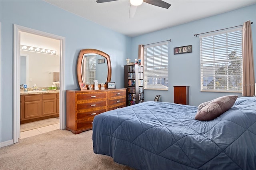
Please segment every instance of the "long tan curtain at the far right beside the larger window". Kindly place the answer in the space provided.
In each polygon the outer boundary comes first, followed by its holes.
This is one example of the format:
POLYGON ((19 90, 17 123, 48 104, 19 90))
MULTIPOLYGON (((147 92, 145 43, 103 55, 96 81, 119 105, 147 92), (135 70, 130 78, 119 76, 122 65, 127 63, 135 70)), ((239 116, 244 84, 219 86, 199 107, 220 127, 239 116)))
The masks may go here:
POLYGON ((252 46, 252 28, 251 22, 246 21, 243 26, 243 96, 255 95, 254 88, 254 64, 253 64, 253 46, 252 46))

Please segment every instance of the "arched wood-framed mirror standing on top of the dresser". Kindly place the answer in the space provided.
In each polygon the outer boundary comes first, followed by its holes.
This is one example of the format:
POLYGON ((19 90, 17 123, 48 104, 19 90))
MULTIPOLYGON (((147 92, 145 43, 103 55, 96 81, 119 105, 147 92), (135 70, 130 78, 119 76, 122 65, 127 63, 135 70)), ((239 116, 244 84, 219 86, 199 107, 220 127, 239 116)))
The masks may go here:
POLYGON ((82 49, 77 61, 77 78, 78 83, 85 83, 87 86, 93 85, 94 80, 98 80, 99 85, 110 82, 109 55, 97 49, 82 49))

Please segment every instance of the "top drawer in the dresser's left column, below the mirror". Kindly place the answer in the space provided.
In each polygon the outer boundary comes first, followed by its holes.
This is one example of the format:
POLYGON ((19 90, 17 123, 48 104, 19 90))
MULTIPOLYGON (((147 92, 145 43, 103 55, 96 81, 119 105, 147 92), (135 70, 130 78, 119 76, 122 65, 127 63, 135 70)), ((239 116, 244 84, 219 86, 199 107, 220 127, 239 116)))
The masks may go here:
POLYGON ((79 101, 95 101, 106 99, 105 92, 77 93, 76 100, 79 101))

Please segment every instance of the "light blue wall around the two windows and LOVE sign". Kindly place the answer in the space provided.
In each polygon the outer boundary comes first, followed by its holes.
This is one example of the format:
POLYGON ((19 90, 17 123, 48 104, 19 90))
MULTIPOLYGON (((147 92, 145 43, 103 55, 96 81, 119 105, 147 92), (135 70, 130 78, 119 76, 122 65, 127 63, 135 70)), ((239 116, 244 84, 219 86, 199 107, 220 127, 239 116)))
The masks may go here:
MULTIPOLYGON (((175 16, 170 16, 170 18, 172 17, 175 16)), ((172 40, 169 45, 168 58, 169 90, 144 90, 145 101, 153 101, 154 97, 159 94, 162 96, 162 101, 174 102, 174 85, 190 86, 190 105, 194 106, 223 95, 242 96, 242 93, 200 92, 200 44, 199 37, 194 36, 194 34, 243 25, 248 20, 253 22, 252 36, 254 44, 254 71, 256 75, 256 5, 132 38, 131 56, 134 56, 134 58, 131 61, 138 57, 138 44, 172 40), (192 45, 192 53, 173 54, 174 47, 186 45, 192 45)))

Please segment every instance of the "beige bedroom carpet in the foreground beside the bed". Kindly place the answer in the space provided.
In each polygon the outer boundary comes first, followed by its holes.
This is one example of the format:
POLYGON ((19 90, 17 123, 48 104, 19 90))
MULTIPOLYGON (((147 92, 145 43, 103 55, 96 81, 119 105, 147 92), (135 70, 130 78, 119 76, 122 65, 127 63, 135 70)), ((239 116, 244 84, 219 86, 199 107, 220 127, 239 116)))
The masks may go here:
POLYGON ((133 170, 94 154, 92 130, 54 130, 0 148, 1 170, 133 170))

